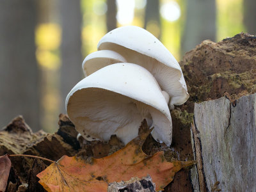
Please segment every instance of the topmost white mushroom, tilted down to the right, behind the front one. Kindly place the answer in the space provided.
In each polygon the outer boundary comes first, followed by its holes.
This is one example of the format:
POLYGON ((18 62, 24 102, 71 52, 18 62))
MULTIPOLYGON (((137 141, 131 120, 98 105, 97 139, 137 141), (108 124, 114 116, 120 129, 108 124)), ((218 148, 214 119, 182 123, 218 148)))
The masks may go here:
POLYGON ((188 89, 179 63, 147 30, 137 26, 113 29, 101 38, 98 50, 118 52, 127 62, 147 68, 156 77, 161 89, 170 95, 170 106, 188 100, 188 89))

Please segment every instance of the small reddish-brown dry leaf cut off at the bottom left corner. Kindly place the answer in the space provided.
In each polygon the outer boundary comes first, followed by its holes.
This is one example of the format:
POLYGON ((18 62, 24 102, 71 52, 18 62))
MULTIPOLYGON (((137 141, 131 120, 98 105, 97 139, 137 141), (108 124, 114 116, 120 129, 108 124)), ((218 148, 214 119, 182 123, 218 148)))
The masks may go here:
POLYGON ((0 156, 0 191, 5 191, 11 169, 11 160, 8 155, 0 156))

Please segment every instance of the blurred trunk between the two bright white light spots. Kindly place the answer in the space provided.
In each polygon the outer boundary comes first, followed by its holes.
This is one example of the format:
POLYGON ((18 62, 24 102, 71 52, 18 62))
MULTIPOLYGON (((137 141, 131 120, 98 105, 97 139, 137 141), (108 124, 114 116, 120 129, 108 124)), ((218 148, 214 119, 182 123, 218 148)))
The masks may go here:
POLYGON ((161 21, 159 14, 159 0, 147 0, 145 10, 144 29, 161 38, 161 21))

